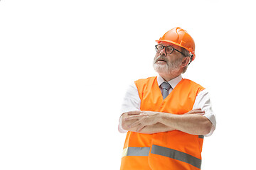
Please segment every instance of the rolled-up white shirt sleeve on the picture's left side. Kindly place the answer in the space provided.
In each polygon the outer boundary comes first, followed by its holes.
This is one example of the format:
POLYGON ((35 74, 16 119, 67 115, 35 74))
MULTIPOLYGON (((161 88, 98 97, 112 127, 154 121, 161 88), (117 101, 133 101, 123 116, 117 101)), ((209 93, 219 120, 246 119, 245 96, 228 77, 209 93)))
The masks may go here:
MULTIPOLYGON (((124 95, 124 100, 122 102, 121 111, 120 111, 121 115, 122 113, 127 113, 129 111, 140 111, 140 104, 141 104, 141 100, 139 98, 138 89, 133 82, 128 86, 127 92, 124 95)), ((127 132, 127 130, 124 130, 122 128, 121 116, 119 118, 118 130, 119 132, 123 132, 123 133, 127 132)))

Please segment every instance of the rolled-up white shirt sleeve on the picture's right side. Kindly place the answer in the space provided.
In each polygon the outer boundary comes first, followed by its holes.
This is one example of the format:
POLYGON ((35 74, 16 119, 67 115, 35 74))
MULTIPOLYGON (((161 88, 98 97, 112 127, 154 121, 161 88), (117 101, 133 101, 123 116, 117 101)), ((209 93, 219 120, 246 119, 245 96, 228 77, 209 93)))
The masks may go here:
POLYGON ((212 104, 210 102, 210 95, 207 89, 201 91, 198 96, 196 96, 196 101, 193 105, 193 109, 195 108, 201 108, 202 111, 205 111, 205 114, 203 116, 206 116, 206 118, 208 118, 213 124, 210 132, 205 136, 208 137, 212 135, 216 128, 216 116, 215 113, 213 113, 212 104))

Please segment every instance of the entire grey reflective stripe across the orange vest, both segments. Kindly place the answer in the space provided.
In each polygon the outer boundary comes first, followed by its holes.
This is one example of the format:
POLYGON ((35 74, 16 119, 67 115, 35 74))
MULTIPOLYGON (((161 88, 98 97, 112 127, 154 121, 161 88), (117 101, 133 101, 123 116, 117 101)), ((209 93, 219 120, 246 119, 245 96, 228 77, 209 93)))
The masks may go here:
MULTIPOLYGON (((123 149, 122 157, 126 156, 149 156, 150 147, 127 147, 123 149)), ((161 147, 157 145, 152 145, 151 154, 159 154, 164 157, 169 157, 171 159, 176 159, 181 162, 186 162, 195 166, 198 169, 201 169, 201 159, 180 152, 174 149, 167 147, 161 147)))

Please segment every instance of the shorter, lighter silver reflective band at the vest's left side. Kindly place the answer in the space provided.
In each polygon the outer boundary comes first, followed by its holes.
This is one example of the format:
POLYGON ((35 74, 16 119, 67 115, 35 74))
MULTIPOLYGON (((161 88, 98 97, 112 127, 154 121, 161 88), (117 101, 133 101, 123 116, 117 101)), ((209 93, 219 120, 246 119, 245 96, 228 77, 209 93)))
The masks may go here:
POLYGON ((123 149, 122 157, 125 156, 149 156, 150 147, 127 147, 123 149))

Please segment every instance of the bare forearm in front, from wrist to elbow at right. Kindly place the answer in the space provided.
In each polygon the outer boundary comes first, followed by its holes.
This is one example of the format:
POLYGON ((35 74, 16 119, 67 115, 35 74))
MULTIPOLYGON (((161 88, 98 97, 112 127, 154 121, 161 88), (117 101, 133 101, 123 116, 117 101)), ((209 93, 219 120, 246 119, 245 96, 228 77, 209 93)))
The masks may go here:
POLYGON ((174 115, 162 113, 159 123, 192 135, 206 135, 210 132, 212 123, 203 115, 174 115))

